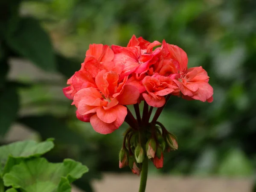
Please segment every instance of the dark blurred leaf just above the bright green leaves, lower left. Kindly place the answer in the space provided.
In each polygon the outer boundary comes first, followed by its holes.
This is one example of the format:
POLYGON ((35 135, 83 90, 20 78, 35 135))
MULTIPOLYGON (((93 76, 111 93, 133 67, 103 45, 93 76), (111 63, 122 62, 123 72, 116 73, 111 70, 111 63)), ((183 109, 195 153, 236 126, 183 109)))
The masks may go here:
POLYGON ((72 131, 54 116, 25 116, 18 119, 18 122, 38 131, 43 139, 53 137, 59 143, 84 145, 84 137, 72 131))

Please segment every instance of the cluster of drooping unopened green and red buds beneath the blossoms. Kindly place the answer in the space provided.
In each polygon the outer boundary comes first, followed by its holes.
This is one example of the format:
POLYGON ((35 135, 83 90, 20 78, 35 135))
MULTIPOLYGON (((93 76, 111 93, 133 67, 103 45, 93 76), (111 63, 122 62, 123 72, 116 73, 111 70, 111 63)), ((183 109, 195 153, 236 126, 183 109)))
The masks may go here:
POLYGON ((119 168, 130 166, 134 174, 140 175, 144 158, 150 159, 157 169, 163 167, 163 153, 178 148, 177 138, 156 125, 146 133, 129 130, 119 152, 119 168))

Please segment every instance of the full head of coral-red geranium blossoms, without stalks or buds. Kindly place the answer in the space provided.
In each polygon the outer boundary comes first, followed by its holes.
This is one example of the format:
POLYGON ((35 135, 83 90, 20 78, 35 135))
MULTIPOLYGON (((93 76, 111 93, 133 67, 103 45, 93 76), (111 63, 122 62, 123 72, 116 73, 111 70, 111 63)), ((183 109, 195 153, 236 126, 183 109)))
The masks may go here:
POLYGON ((73 99, 78 119, 90 122, 96 132, 109 134, 125 121, 125 105, 145 100, 160 108, 167 95, 212 102, 207 72, 202 67, 188 69, 187 64, 180 47, 133 35, 127 47, 90 45, 81 69, 63 91, 73 99))

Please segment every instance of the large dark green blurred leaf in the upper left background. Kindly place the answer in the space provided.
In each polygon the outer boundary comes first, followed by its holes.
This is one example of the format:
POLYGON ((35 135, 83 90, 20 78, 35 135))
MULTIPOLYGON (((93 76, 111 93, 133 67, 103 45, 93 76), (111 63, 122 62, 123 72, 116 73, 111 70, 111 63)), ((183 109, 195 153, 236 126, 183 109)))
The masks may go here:
POLYGON ((55 71, 55 56, 50 38, 37 20, 23 17, 18 29, 7 35, 6 42, 9 47, 38 67, 55 71))

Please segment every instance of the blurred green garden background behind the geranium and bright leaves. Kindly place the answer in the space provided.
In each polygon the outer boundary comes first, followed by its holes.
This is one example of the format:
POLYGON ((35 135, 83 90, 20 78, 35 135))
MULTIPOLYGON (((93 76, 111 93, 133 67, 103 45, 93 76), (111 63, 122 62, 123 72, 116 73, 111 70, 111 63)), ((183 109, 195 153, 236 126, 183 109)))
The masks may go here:
POLYGON ((212 103, 168 102, 160 122, 179 149, 165 154, 163 169, 150 165, 148 192, 253 191, 255 0, 1 0, 1 145, 54 137, 50 161, 69 157, 89 167, 74 183, 80 189, 136 191, 139 178, 118 163, 127 125, 97 134, 62 93, 89 44, 126 46, 133 34, 184 49, 188 66, 206 69, 214 88, 212 103))

